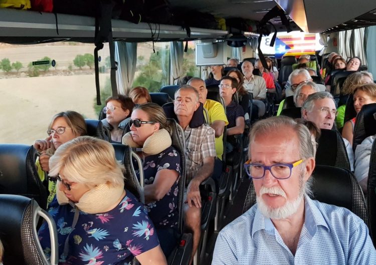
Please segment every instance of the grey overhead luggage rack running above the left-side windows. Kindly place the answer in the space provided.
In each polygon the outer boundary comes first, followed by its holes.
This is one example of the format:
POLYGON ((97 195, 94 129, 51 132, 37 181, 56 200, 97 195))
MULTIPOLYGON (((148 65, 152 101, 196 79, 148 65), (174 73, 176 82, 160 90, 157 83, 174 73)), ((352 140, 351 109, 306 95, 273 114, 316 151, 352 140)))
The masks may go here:
MULTIPOLYGON (((185 40, 181 26, 154 23, 134 24, 125 20, 112 20, 114 40, 150 41, 185 40)), ((225 30, 191 28, 190 39, 224 38, 225 30)), ((0 8, 0 42, 38 43, 51 41, 92 42, 95 18, 89 16, 45 13, 0 8)))

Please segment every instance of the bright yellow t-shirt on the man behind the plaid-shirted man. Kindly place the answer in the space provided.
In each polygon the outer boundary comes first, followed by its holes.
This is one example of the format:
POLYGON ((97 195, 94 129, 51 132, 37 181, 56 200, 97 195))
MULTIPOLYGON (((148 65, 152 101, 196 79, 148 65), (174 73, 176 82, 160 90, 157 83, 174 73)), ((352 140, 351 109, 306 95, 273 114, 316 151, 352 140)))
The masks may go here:
MULTIPOLYGON (((216 120, 225 121, 225 125, 229 124, 225 109, 222 104, 216 100, 207 99, 205 101, 204 107, 208 110, 209 113, 209 124, 212 124, 216 120)), ((222 160, 223 155, 223 134, 219 137, 216 137, 216 152, 217 157, 222 160)))

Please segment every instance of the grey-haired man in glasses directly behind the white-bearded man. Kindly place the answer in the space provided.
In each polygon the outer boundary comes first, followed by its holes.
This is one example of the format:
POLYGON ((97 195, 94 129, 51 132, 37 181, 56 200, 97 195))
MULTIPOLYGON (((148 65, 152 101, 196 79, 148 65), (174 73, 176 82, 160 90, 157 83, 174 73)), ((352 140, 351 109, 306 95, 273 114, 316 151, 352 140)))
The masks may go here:
MULTIPOLYGON (((332 129, 337 115, 334 98, 329 92, 317 92, 310 94, 304 101, 302 108, 302 118, 312 121, 320 129, 332 129)), ((348 160, 351 171, 354 165, 354 152, 347 139, 342 138, 346 146, 348 160)))

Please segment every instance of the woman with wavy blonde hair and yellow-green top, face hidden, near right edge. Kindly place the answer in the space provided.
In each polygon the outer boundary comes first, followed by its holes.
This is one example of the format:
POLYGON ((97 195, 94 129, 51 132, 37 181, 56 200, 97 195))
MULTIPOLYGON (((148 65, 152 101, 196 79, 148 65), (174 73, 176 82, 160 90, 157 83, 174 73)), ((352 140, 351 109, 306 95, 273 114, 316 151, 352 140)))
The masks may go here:
MULTIPOLYGON (((346 94, 352 95, 356 87, 365 83, 372 83, 372 82, 373 82, 373 77, 370 72, 360 71, 360 72, 351 73, 349 76, 347 76, 346 80, 344 81, 341 93, 345 95, 346 94)), ((345 109, 346 109, 345 104, 340 105, 337 108, 338 114, 335 117, 335 123, 337 125, 337 128, 343 127, 345 109)))

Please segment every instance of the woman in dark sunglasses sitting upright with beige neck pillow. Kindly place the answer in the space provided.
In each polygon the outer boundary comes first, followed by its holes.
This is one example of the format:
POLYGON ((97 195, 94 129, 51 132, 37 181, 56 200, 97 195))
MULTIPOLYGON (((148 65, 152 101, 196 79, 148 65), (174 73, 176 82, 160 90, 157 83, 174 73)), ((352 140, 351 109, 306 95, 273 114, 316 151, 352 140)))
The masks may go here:
POLYGON ((130 132, 123 144, 141 148, 145 177, 145 204, 156 228, 163 253, 168 256, 178 239, 177 182, 180 154, 171 146, 170 126, 163 108, 155 103, 135 106, 130 132))

